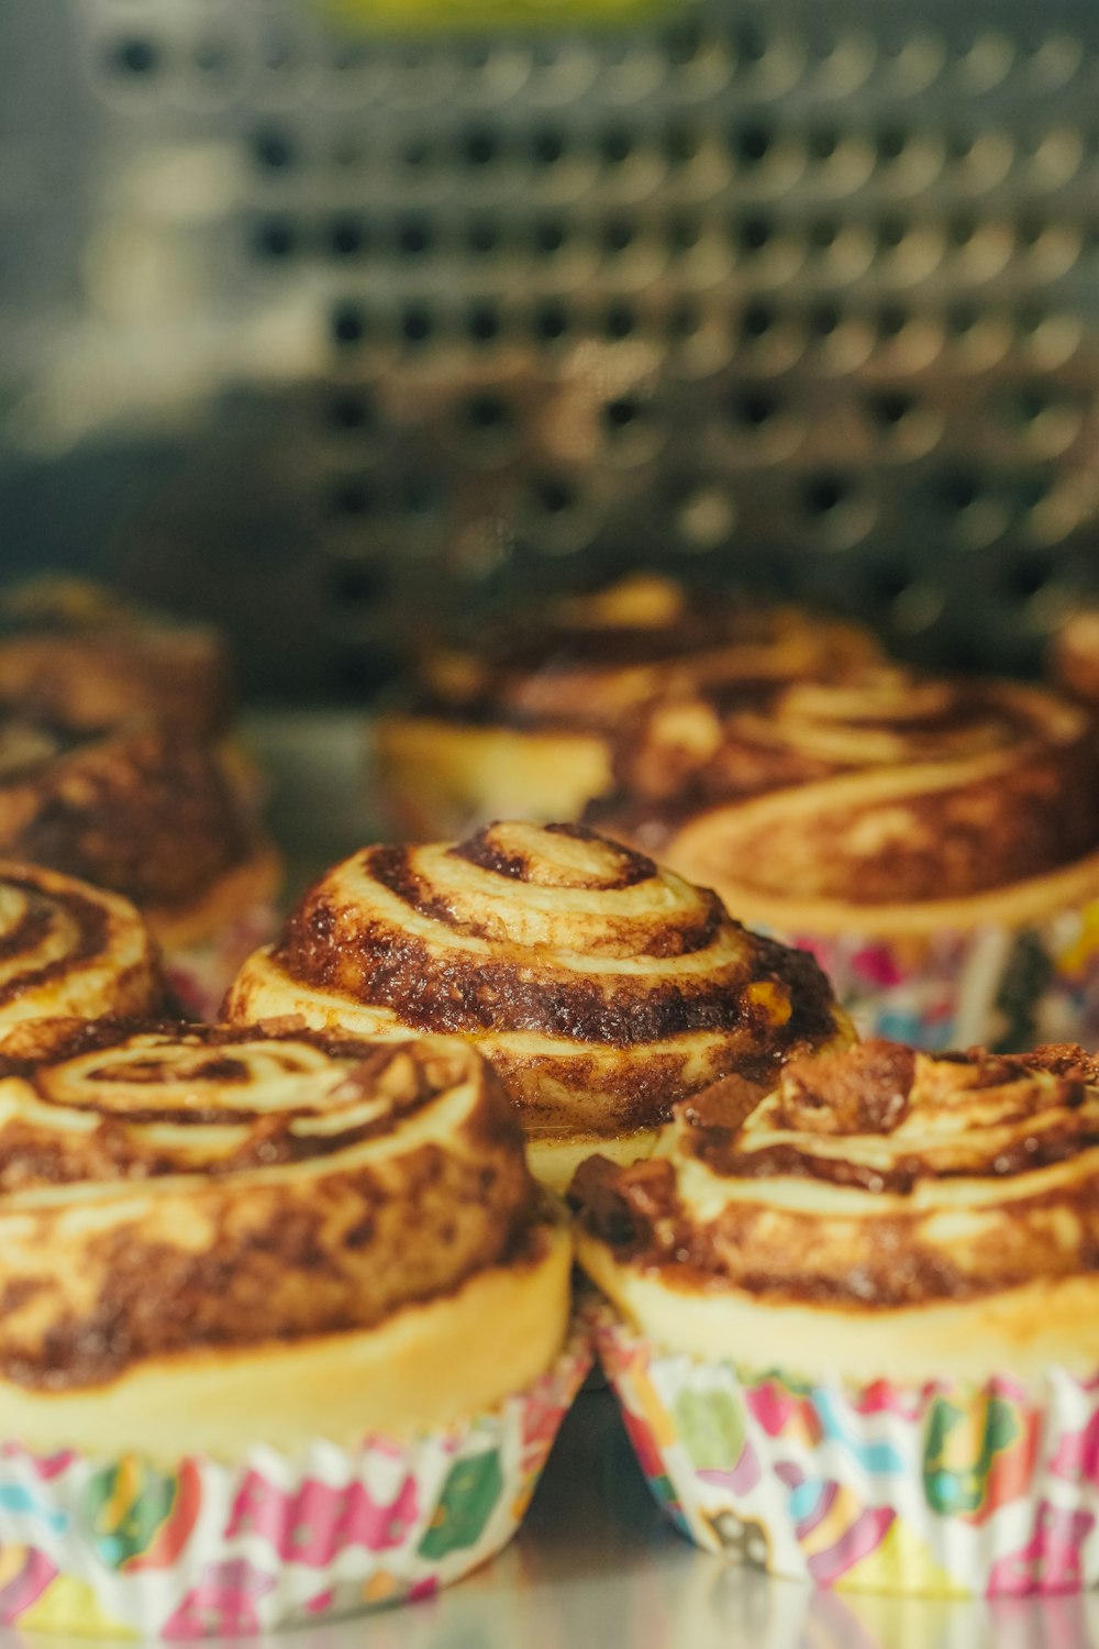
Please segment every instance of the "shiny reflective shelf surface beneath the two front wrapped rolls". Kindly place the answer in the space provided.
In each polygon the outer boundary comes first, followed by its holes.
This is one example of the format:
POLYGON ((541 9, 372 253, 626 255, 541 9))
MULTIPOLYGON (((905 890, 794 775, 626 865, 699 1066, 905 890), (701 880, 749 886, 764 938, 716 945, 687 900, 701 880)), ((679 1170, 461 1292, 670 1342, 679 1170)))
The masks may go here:
MULTIPOLYGON (((97 1639, 101 1644, 104 1639, 97 1639)), ((96 1639, 0 1629, 0 1649, 96 1639)), ((208 1639, 208 1642, 217 1642, 208 1639)), ((649 1497, 608 1392, 583 1392, 517 1539, 438 1596, 272 1633, 278 1649, 1099 1649, 1099 1593, 995 1603, 814 1591, 697 1552, 649 1497)))

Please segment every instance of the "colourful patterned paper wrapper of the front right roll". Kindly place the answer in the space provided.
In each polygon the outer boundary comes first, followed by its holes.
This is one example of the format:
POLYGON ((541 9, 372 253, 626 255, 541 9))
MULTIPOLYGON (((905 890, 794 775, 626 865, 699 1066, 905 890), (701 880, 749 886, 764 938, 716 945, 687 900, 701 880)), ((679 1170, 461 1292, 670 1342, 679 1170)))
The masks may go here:
POLYGON ((652 1494, 710 1552, 817 1586, 939 1598, 1099 1581, 1099 1374, 812 1385, 595 1341, 652 1494))

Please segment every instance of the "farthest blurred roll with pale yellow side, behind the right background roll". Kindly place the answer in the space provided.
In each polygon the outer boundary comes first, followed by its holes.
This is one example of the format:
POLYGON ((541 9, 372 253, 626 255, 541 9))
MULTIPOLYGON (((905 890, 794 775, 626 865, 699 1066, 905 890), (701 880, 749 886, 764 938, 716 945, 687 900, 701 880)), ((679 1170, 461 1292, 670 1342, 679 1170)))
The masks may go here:
POLYGON ((857 625, 643 574, 422 651, 376 724, 382 800, 414 839, 491 818, 577 818, 610 780, 621 716, 677 679, 791 679, 877 656, 857 625))

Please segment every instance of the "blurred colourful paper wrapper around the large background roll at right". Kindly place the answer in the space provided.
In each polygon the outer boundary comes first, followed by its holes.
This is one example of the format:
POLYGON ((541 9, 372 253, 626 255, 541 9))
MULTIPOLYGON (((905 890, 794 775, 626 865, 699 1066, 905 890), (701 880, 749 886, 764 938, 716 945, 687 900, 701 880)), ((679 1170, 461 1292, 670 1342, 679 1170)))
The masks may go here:
POLYGON ((1099 900, 1022 928, 776 937, 812 951, 863 1036, 931 1052, 1099 1042, 1099 900))

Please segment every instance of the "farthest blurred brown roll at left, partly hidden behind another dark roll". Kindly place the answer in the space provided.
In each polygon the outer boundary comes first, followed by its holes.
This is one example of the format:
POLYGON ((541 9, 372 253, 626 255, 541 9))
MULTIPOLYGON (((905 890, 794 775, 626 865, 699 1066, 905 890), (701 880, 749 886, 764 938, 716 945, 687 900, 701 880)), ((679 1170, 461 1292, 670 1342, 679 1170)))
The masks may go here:
POLYGON ((229 716, 229 663, 208 625, 82 579, 31 579, 0 590, 0 704, 92 731, 148 714, 209 737, 229 716))

